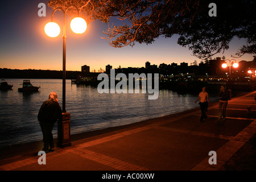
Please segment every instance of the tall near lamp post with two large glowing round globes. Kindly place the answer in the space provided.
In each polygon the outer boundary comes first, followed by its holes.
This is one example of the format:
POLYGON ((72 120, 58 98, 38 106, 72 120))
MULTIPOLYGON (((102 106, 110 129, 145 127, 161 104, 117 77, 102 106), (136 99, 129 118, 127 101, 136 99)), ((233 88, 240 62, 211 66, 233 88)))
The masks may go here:
POLYGON ((57 23, 53 22, 53 14, 57 11, 63 11, 64 24, 63 24, 63 105, 62 105, 62 121, 58 122, 58 142, 57 146, 67 147, 71 145, 70 142, 70 113, 66 111, 66 13, 69 8, 75 8, 77 11, 77 17, 71 21, 71 29, 76 34, 82 34, 87 28, 87 24, 84 19, 79 17, 79 9, 75 5, 68 6, 66 9, 60 7, 56 8, 52 12, 51 22, 47 23, 44 27, 46 34, 52 38, 60 34, 60 27, 57 23))

